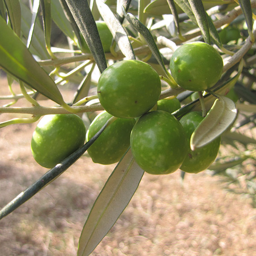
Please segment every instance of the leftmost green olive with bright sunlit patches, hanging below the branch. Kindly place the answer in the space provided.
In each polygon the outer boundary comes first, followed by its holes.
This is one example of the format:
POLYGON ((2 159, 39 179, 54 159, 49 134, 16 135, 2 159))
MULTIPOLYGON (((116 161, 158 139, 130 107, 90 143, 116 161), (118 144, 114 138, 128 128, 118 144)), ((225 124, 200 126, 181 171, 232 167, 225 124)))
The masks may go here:
POLYGON ((85 141, 83 120, 75 114, 44 116, 31 140, 32 155, 46 168, 52 168, 80 148, 85 141))

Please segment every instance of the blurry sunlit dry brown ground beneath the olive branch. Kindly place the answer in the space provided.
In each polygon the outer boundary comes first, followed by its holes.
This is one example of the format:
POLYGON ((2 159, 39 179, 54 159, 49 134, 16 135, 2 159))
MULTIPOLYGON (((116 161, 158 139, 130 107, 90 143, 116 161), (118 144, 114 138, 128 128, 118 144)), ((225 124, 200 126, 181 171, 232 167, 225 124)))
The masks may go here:
MULTIPOLYGON (((47 171, 31 155, 35 125, 0 129, 0 207, 47 171)), ((75 256, 83 224, 113 167, 81 157, 0 221, 0 255, 75 256)), ((221 184, 207 172, 187 174, 183 185, 179 172, 145 174, 92 255, 256 255, 256 209, 248 198, 225 191, 221 184)))

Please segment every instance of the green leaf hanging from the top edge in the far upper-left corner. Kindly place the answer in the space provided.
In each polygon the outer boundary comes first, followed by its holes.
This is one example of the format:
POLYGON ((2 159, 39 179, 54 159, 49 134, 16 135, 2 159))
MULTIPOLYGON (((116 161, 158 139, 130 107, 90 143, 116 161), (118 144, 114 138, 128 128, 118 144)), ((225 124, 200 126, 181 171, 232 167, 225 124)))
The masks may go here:
POLYGON ((19 0, 4 0, 13 31, 20 37, 21 11, 19 0))

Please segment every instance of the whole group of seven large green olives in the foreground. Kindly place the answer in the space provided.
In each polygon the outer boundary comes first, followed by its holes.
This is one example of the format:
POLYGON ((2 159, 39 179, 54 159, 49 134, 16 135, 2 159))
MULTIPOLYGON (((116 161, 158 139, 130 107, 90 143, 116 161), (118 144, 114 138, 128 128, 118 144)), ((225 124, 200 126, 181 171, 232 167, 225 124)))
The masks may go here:
MULTIPOLYGON (((194 91, 212 87, 221 76, 222 68, 218 52, 202 42, 179 47, 170 61, 177 84, 194 91), (198 51, 203 54, 199 55, 198 51), (215 68, 206 65, 211 61, 215 68)), ((220 138, 194 151, 190 149, 190 137, 203 117, 199 112, 190 112, 176 119, 172 113, 180 108, 180 102, 175 97, 159 100, 160 77, 149 64, 137 60, 116 62, 101 74, 97 93, 105 111, 91 123, 86 141, 112 116, 116 119, 88 149, 93 162, 116 163, 129 147, 138 165, 150 174, 169 174, 177 169, 197 173, 215 160, 220 138)), ((85 128, 80 117, 45 116, 33 134, 33 156, 39 164, 51 168, 84 141, 85 128), (67 139, 70 140, 67 142, 67 139)))

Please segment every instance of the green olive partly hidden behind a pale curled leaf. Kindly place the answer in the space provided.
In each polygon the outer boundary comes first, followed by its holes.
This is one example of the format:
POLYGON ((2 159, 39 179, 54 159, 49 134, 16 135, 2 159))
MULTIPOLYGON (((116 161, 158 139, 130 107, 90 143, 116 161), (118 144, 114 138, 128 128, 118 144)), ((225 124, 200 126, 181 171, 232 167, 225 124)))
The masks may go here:
POLYGON ((186 154, 186 158, 180 166, 180 169, 184 172, 202 172, 207 169, 217 157, 221 143, 221 137, 216 138, 201 148, 196 148, 194 151, 190 149, 189 144, 191 135, 203 119, 204 117, 201 116, 200 112, 187 113, 180 119, 180 123, 186 132, 188 145, 188 153, 186 154))

